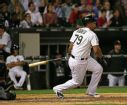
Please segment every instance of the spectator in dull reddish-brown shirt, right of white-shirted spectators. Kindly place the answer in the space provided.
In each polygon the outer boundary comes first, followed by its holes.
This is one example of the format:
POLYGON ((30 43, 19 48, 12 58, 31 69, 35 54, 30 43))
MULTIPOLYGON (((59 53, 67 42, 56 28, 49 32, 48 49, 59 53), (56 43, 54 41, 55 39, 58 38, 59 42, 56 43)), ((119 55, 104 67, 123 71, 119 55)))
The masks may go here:
POLYGON ((57 14, 53 12, 54 6, 52 4, 48 4, 47 13, 43 15, 43 23, 45 26, 56 26, 58 23, 57 14))

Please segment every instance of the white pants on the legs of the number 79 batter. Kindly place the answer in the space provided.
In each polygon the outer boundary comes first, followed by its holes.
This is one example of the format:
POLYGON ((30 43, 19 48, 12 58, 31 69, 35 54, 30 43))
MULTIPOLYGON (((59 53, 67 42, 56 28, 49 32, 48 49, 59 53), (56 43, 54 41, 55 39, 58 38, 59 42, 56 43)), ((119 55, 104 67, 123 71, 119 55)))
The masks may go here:
POLYGON ((53 88, 54 92, 63 92, 69 88, 80 86, 83 82, 85 73, 88 70, 92 72, 92 77, 86 93, 90 95, 96 94, 96 88, 103 71, 101 65, 92 57, 89 57, 87 60, 75 60, 70 57, 69 66, 72 73, 72 79, 64 84, 55 86, 53 88))

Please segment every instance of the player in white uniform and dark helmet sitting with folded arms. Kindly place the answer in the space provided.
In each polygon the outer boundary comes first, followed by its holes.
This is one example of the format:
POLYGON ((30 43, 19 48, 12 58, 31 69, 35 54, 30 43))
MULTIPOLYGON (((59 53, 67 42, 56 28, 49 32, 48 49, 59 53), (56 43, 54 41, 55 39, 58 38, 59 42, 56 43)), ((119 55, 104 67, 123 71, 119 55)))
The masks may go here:
POLYGON ((23 70, 24 57, 18 54, 19 46, 13 45, 11 48, 11 55, 6 59, 6 65, 9 69, 9 77, 14 82, 15 89, 19 89, 23 86, 26 79, 26 72, 23 70), (20 77, 17 81, 16 77, 20 77))

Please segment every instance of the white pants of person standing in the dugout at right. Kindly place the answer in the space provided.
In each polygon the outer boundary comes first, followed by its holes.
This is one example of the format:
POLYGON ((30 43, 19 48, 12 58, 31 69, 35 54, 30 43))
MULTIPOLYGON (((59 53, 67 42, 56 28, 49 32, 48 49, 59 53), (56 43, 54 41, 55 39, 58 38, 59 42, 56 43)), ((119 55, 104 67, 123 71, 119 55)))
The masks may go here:
POLYGON ((108 80, 109 80, 109 87, 113 87, 116 86, 118 84, 118 86, 124 86, 125 83, 125 76, 114 76, 111 74, 108 74, 108 80))

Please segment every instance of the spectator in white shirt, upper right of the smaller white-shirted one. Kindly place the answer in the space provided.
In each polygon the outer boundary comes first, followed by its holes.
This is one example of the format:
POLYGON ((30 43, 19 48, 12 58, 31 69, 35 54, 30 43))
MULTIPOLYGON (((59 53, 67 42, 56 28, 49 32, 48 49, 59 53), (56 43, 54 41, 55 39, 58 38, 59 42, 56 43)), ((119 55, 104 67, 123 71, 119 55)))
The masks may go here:
POLYGON ((29 13, 31 15, 31 21, 34 26, 42 26, 43 24, 42 16, 40 12, 36 11, 35 9, 36 7, 34 2, 29 2, 28 10, 26 11, 26 13, 29 13))

